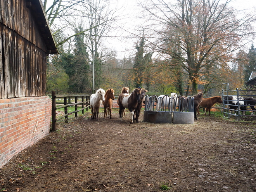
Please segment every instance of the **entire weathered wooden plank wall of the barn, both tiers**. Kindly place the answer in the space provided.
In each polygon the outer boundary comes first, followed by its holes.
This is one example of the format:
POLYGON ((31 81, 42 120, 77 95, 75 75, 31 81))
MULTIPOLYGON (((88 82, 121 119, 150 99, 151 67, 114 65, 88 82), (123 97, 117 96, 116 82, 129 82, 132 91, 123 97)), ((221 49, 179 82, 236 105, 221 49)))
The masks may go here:
POLYGON ((26 0, 0 0, 0 43, 0 99, 44 95, 47 48, 26 0))

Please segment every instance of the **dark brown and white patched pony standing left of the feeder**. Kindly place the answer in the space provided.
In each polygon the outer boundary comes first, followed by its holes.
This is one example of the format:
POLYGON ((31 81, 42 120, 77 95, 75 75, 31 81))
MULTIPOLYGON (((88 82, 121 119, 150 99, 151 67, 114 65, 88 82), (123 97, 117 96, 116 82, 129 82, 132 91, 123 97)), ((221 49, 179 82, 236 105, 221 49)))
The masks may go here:
POLYGON ((140 103, 141 89, 135 88, 133 92, 129 95, 128 93, 121 93, 118 96, 119 103, 119 121, 123 120, 123 112, 125 108, 130 111, 130 123, 133 123, 133 114, 137 108, 138 103, 140 103))

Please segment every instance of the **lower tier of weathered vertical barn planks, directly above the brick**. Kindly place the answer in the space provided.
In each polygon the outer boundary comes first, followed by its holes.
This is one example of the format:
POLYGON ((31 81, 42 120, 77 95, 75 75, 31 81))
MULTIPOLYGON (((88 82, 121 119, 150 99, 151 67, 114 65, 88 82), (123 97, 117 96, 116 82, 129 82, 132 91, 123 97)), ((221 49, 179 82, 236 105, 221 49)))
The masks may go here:
POLYGON ((46 54, 0 24, 0 99, 45 94, 46 54))

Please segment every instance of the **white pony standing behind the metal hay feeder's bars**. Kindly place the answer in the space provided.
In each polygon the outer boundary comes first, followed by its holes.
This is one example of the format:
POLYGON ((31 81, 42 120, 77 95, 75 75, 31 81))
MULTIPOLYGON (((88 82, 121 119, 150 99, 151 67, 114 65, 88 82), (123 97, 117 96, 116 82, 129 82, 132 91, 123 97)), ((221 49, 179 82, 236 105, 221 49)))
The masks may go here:
POLYGON ((175 105, 176 98, 176 93, 171 93, 171 97, 169 97, 168 95, 160 95, 159 97, 157 97, 157 111, 161 111, 163 107, 168 107, 168 110, 170 111, 176 111, 176 106, 178 106, 178 102, 175 105), (170 104, 170 106, 168 106, 168 104, 170 104))

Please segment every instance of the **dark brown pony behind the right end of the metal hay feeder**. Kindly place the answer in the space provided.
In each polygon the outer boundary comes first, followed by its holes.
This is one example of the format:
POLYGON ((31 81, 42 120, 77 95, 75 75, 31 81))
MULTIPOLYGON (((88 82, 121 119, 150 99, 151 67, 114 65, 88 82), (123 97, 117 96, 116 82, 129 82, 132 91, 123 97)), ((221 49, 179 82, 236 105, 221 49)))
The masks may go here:
MULTIPOLYGON (((194 118, 195 120, 197 120, 197 108, 200 107, 200 104, 202 102, 202 99, 203 99, 203 94, 201 92, 199 92, 197 95, 194 95, 192 97, 192 99, 194 99, 194 118)), ((178 103, 179 103, 179 111, 182 111, 183 110, 183 106, 187 106, 189 103, 188 103, 188 97, 183 97, 182 98, 179 96, 179 98, 177 99, 178 103), (184 98, 184 99, 183 99, 184 98), (184 103, 185 101, 185 103, 184 103)))

